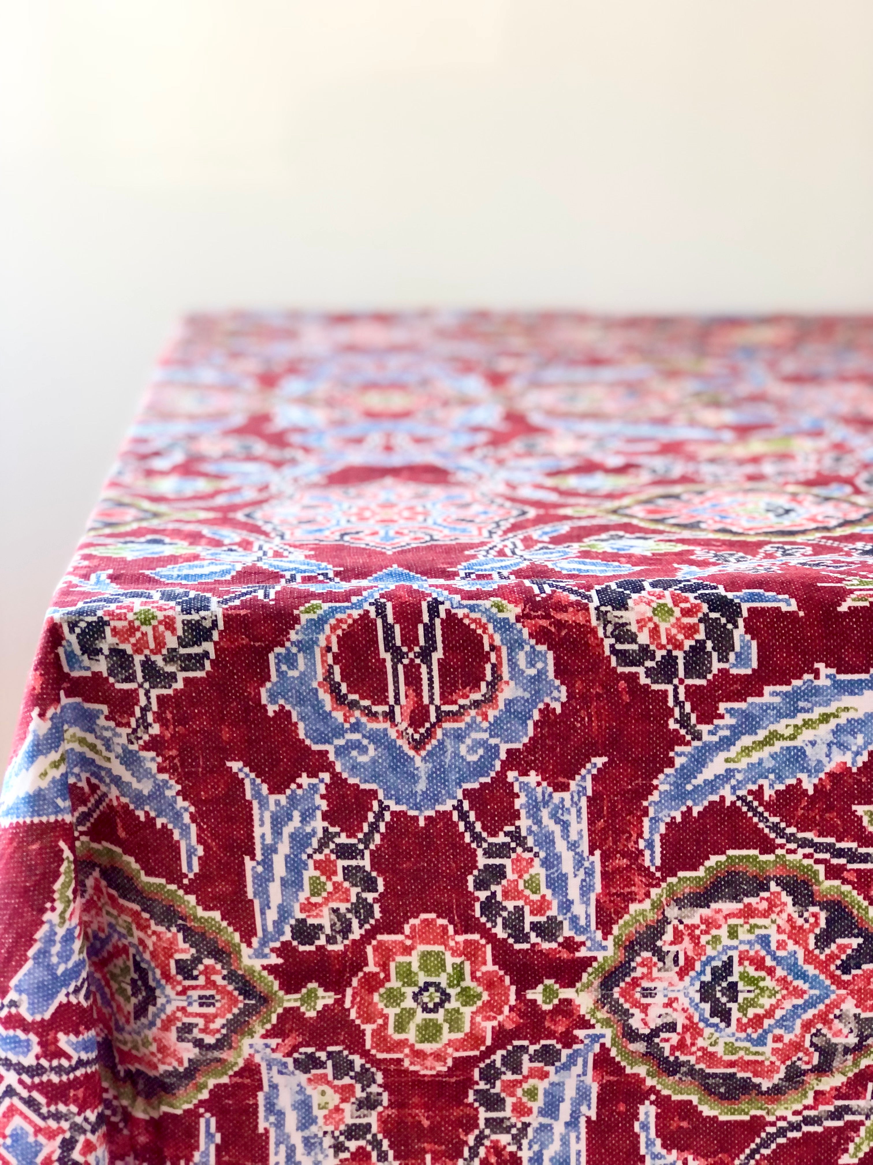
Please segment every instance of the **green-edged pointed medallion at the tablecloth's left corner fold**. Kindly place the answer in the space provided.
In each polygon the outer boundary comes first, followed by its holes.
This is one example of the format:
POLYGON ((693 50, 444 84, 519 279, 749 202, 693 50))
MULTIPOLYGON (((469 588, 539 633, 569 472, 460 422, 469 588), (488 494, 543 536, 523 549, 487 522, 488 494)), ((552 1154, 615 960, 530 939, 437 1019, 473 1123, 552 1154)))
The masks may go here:
POLYGON ((130 1111, 192 1104, 284 1004, 239 939, 108 846, 78 853, 104 1082, 130 1111))

